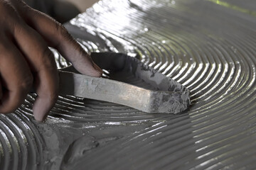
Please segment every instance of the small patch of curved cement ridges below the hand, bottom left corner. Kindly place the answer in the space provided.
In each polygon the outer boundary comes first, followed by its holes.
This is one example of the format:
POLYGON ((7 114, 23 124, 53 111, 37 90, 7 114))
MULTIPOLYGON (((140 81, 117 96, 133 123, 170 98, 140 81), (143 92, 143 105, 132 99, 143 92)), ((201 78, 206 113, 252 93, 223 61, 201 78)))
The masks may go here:
POLYGON ((45 146, 36 125, 20 111, 0 116, 1 169, 41 169, 45 146))

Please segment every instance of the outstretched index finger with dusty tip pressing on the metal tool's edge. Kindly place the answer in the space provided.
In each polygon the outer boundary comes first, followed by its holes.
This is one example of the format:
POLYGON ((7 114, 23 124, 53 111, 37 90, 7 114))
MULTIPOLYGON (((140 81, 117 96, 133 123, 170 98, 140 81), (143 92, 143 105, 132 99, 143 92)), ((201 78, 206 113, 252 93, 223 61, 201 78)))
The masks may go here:
POLYGON ((49 46, 55 47, 82 74, 92 77, 102 76, 100 67, 92 61, 90 55, 72 38, 68 30, 46 14, 36 11, 26 6, 26 4, 24 5, 25 7, 23 7, 26 8, 26 11, 23 11, 23 8, 19 8, 21 16, 41 34, 49 46))

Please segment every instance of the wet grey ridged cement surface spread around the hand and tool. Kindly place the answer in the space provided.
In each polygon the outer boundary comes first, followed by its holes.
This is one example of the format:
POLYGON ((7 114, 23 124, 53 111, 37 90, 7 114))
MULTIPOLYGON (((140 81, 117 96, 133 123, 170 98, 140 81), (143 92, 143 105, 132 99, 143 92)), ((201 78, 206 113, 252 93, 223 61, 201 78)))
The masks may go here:
POLYGON ((138 54, 187 86, 192 106, 146 114, 60 96, 41 124, 29 96, 0 115, 1 169, 255 169, 256 4, 247 2, 106 0, 70 21, 85 50, 138 54))

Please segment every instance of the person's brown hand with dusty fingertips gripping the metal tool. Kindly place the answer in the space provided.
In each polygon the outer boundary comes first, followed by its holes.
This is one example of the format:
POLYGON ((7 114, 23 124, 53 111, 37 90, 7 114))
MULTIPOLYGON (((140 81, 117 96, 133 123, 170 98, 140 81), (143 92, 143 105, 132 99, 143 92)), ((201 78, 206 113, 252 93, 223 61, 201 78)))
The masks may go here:
POLYGON ((80 73, 101 77, 102 70, 53 18, 21 0, 0 0, 0 113, 11 113, 36 89, 33 115, 45 120, 58 98, 57 49, 80 73))

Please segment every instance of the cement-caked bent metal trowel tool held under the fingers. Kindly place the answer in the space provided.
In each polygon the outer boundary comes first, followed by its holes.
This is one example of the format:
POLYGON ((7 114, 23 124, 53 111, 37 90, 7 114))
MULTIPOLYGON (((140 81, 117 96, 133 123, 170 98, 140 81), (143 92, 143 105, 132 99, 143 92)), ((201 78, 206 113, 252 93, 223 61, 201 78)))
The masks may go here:
POLYGON ((118 103, 146 113, 180 113, 190 104, 189 91, 135 57, 92 52, 105 77, 87 77, 73 67, 58 70, 60 94, 118 103))

